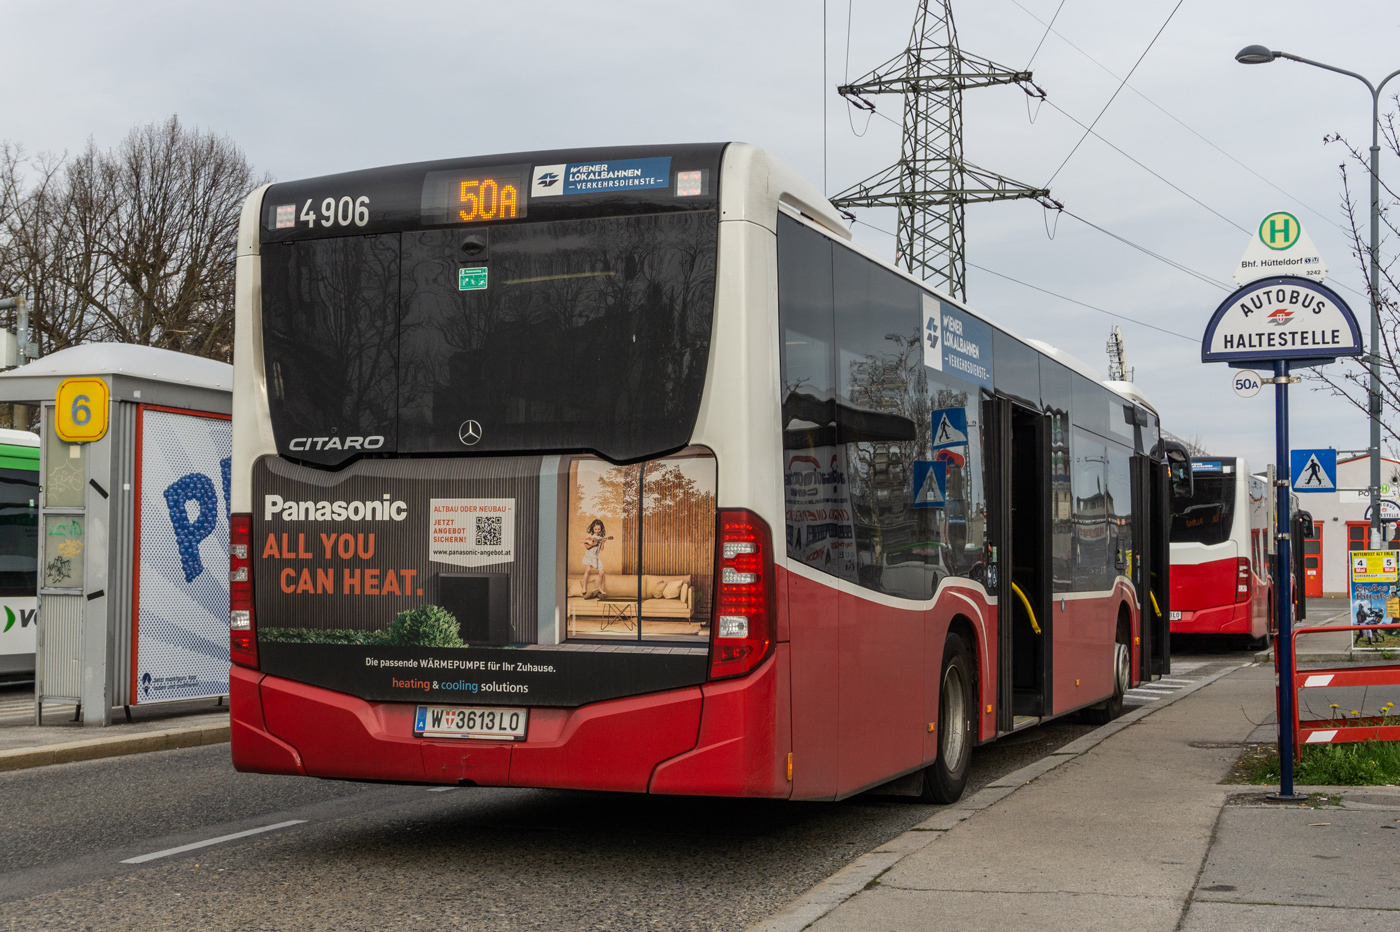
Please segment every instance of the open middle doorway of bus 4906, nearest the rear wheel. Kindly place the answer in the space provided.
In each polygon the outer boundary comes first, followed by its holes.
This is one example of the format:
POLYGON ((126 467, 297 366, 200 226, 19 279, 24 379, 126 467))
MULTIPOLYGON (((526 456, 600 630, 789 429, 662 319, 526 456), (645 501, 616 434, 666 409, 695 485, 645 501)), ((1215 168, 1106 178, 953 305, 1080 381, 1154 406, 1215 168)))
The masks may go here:
POLYGON ((1007 397, 983 410, 997 567, 988 585, 998 613, 997 730, 1008 732, 1051 712, 1050 430, 1046 414, 1007 397))

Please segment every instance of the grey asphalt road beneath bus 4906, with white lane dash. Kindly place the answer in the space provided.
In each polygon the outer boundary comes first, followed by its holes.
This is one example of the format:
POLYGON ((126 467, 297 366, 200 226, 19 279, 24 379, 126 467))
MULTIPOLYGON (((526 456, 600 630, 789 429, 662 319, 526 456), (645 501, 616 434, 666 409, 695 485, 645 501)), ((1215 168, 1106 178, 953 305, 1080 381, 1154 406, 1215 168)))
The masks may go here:
MULTIPOLYGON (((1190 669, 1173 679, 1246 659, 1179 655, 1190 669)), ((1050 722, 979 749, 967 792, 1088 730, 1050 722)), ((0 928, 141 932, 742 929, 937 810, 868 795, 785 803, 263 777, 234 772, 227 746, 0 774, 0 928)))

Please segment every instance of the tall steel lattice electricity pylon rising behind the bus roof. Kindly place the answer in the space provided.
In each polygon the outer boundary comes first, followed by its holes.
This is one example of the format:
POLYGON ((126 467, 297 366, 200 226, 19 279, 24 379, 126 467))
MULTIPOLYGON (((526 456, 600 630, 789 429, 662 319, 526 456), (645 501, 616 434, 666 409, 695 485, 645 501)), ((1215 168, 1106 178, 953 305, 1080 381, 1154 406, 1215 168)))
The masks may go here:
POLYGON ((1014 71, 958 48, 952 0, 920 0, 909 48, 837 92, 874 111, 868 94, 903 94, 904 122, 899 161, 832 197, 841 209, 897 207, 895 262, 944 290, 967 297, 963 214, 967 204, 1035 199, 1046 207, 1050 189, 1032 188, 963 158, 962 92, 1018 84, 1036 98, 1044 91, 1030 71, 1014 71))

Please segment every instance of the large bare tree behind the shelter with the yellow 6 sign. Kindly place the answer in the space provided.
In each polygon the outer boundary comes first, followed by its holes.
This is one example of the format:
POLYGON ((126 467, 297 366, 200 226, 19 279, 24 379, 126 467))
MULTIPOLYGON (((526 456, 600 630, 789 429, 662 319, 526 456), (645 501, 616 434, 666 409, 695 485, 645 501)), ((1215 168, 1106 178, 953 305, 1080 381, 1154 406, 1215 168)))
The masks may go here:
POLYGON ((228 360, 238 216, 258 176, 172 116, 113 150, 0 147, 0 294, 34 301, 41 353, 92 340, 228 360))

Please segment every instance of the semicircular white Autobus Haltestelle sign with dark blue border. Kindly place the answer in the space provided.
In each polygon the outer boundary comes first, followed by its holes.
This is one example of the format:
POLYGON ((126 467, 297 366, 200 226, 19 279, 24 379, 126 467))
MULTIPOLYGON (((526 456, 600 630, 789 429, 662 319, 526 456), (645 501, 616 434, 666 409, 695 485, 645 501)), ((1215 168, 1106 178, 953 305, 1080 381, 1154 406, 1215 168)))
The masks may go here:
POLYGON ((1201 362, 1319 362, 1361 350, 1357 318, 1337 292, 1310 278, 1274 276, 1221 302, 1205 327, 1201 362))

